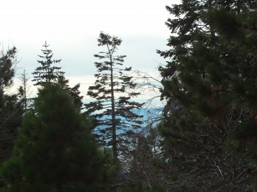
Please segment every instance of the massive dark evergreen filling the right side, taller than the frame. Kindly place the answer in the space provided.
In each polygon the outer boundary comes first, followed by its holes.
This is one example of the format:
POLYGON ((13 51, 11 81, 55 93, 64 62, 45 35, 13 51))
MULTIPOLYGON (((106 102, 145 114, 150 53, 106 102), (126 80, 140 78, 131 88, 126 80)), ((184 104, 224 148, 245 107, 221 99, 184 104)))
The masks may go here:
POLYGON ((200 191, 253 190, 255 167, 246 157, 257 125, 256 5, 183 0, 167 6, 175 18, 166 23, 171 49, 158 51, 171 58, 159 68, 168 101, 160 131, 178 174, 173 186, 181 191, 193 185, 200 191), (245 138, 244 148, 234 135, 245 138))

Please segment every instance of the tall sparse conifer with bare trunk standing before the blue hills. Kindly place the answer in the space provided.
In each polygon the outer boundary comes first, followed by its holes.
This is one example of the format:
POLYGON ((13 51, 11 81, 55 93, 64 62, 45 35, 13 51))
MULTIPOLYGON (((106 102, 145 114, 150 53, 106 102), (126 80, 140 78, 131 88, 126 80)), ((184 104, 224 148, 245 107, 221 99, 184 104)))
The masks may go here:
POLYGON ((126 56, 115 55, 122 40, 116 36, 100 32, 98 46, 107 50, 94 57, 103 62, 95 62, 97 74, 94 86, 88 88, 87 95, 95 98, 86 104, 87 113, 97 120, 95 133, 104 147, 111 146, 113 155, 118 159, 122 146, 128 146, 129 134, 140 127, 140 115, 134 109, 142 104, 131 101, 140 93, 133 92, 137 84, 127 74, 131 67, 122 68, 126 56), (120 148, 119 148, 120 147, 120 148))

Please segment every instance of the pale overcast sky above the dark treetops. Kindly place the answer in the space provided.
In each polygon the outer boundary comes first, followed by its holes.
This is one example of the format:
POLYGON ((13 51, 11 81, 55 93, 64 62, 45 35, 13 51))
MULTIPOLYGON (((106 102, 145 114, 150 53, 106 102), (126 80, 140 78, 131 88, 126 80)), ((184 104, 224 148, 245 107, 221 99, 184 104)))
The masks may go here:
MULTIPOLYGON (((31 72, 39 66, 44 41, 71 84, 94 82, 93 57, 100 51, 100 31, 119 36, 124 65, 152 73, 165 60, 156 49, 166 50, 171 15, 166 5, 179 0, 0 0, 0 40, 5 48, 16 46, 19 66, 31 72)), ((156 71, 157 72, 157 71, 156 71)), ((32 77, 31 77, 32 78, 32 77)))

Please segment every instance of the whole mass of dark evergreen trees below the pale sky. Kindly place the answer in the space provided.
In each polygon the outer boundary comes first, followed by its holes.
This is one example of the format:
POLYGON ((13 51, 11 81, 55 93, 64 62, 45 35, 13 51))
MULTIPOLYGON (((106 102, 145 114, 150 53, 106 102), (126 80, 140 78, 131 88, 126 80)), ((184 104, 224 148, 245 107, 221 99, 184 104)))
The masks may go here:
POLYGON ((86 94, 45 42, 32 73, 38 94, 28 98, 25 71, 8 92, 17 49, 1 52, 0 190, 257 190, 257 1, 166 9, 160 80, 133 73, 119 54, 126 42, 100 32, 86 94), (165 105, 137 102, 145 90, 158 90, 165 105))

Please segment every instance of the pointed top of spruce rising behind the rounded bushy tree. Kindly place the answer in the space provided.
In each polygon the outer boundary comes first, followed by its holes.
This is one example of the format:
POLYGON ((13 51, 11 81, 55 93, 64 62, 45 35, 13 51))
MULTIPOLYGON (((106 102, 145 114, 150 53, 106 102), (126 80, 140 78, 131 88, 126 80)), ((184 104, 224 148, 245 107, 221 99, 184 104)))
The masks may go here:
POLYGON ((64 74, 64 72, 60 71, 61 67, 53 66, 53 64, 60 63, 61 60, 52 59, 52 50, 48 49, 49 45, 46 44, 46 41, 43 47, 44 49, 41 50, 43 52, 43 56, 39 55, 43 60, 38 60, 40 66, 32 73, 34 75, 34 79, 32 81, 36 81, 34 85, 43 86, 44 83, 47 82, 57 82, 58 78, 64 74))

